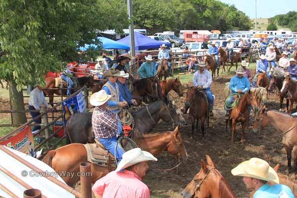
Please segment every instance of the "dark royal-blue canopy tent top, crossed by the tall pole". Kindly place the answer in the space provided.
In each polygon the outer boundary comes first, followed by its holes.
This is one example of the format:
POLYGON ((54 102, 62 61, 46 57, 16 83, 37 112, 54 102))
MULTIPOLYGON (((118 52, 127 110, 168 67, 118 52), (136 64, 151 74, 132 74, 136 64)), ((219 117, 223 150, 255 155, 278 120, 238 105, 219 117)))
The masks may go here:
MULTIPOLYGON (((138 32, 134 32, 134 37, 135 37, 135 50, 158 49, 162 44, 165 44, 167 47, 171 47, 171 44, 169 43, 156 41, 138 32)), ((123 39, 118 40, 117 42, 130 46, 130 35, 128 35, 123 39)))

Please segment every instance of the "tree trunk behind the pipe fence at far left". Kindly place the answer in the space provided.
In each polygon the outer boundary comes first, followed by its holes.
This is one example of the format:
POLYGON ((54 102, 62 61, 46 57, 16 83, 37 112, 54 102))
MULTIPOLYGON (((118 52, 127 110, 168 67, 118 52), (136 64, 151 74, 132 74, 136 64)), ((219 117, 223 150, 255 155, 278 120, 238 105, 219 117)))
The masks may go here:
MULTIPOLYGON (((11 110, 25 110, 23 91, 16 89, 15 82, 8 82, 11 110)), ((12 113, 13 124, 24 124, 27 122, 26 113, 12 113)))

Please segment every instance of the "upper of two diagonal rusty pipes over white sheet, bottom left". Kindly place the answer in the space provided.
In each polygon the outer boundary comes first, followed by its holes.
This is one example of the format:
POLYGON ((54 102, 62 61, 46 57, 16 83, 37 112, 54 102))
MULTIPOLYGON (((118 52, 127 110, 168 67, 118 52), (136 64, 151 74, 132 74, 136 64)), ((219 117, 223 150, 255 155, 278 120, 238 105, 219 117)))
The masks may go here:
MULTIPOLYGON (((19 162, 23 163, 24 165, 28 166, 29 168, 31 168, 32 170, 36 171, 36 172, 43 172, 45 173, 43 170, 41 170, 40 168, 32 165, 30 162, 24 160, 23 158, 21 158, 20 156, 14 154, 13 152, 11 152, 10 150, 8 150, 7 148, 5 148, 4 146, 0 145, 0 149, 2 151, 4 151, 5 153, 7 153, 8 155, 12 156, 13 158, 15 158, 16 160, 18 160, 19 162)), ((82 198, 81 194, 75 190, 74 188, 64 184, 63 182, 57 180, 54 177, 49 176, 48 174, 44 174, 45 178, 47 178, 49 181, 53 182, 54 184, 58 185, 59 187, 65 189, 66 191, 70 192, 71 194, 75 195, 78 198, 82 198)))

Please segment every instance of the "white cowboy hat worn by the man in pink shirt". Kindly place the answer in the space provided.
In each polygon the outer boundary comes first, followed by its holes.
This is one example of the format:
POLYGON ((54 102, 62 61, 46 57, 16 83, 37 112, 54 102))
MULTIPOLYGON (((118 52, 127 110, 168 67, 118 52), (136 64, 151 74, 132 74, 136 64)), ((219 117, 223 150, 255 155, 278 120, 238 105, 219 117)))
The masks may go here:
POLYGON ((123 154, 123 159, 120 161, 115 171, 118 172, 142 161, 157 161, 157 158, 140 148, 133 148, 123 154))

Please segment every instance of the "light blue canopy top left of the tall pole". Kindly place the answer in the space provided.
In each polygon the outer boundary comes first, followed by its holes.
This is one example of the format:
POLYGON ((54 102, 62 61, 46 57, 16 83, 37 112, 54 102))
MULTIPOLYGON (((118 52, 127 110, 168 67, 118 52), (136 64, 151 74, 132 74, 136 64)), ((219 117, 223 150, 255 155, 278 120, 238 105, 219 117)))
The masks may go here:
MULTIPOLYGON (((126 49, 126 50, 130 49, 129 45, 127 46, 127 45, 124 45, 122 43, 113 41, 111 39, 107 39, 105 37, 97 37, 97 39, 99 39, 102 42, 103 49, 126 49)), ((85 51, 85 50, 89 49, 90 47, 94 47, 95 49, 98 48, 97 45, 94 45, 94 44, 88 45, 88 44, 86 44, 85 47, 81 47, 81 48, 79 48, 79 50, 85 51)))

